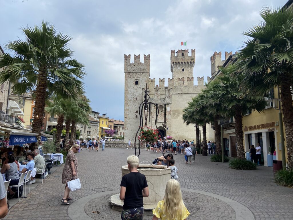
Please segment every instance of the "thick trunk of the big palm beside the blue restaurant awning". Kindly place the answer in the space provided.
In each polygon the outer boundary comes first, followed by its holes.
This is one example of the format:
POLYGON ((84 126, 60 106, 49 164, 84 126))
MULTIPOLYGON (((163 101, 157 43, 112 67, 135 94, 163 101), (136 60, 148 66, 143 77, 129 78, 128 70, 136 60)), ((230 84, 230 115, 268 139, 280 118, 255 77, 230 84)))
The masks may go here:
MULTIPOLYGON (((38 85, 36 87, 35 113, 33 119, 33 133, 38 133, 38 143, 41 144, 41 131, 43 126, 43 115, 45 111, 45 97, 47 90, 47 77, 45 72, 40 72, 38 85)), ((33 144, 35 145, 35 144, 33 144)))

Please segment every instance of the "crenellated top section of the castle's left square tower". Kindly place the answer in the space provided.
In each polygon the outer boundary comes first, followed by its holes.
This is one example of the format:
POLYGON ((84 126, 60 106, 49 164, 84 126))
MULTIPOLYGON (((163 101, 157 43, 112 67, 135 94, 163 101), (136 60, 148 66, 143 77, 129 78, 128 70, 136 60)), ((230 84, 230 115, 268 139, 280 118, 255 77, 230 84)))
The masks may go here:
POLYGON ((130 54, 124 54, 124 72, 149 72, 150 69, 150 55, 144 54, 144 62, 140 62, 140 54, 134 54, 134 62, 130 63, 130 54))

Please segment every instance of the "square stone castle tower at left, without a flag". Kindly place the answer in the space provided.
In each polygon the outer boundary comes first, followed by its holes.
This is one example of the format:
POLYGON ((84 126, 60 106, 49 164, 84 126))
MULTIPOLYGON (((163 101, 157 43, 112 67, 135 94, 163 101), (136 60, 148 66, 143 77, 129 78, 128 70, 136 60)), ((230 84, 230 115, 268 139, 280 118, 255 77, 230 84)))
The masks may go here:
POLYGON ((135 134, 139 127, 139 105, 143 101, 142 88, 149 87, 150 55, 134 55, 134 63, 130 63, 130 55, 124 55, 124 141, 134 143, 135 134))

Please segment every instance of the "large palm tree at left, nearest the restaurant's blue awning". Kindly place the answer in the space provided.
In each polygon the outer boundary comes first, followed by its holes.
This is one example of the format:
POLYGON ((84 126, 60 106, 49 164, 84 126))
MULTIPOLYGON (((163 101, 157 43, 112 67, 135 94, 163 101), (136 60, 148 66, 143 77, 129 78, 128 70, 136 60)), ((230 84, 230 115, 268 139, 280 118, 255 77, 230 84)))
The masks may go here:
POLYGON ((82 85, 79 79, 85 75, 84 65, 69 59, 73 51, 68 47, 71 38, 63 35, 48 23, 40 27, 22 28, 25 40, 11 41, 6 45, 13 57, 0 56, 0 84, 10 80, 14 94, 32 91, 35 97, 33 132, 40 142, 45 100, 54 91, 72 96, 82 85))

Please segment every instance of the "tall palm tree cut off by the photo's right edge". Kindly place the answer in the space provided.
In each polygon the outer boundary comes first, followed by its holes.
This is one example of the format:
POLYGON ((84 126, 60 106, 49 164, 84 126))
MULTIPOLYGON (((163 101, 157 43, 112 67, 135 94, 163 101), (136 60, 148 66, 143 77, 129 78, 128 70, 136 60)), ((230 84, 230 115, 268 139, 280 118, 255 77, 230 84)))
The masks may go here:
POLYGON ((273 87, 281 90, 282 112, 287 142, 288 167, 293 168, 293 12, 264 8, 263 21, 244 35, 249 39, 237 57, 246 72, 248 86, 265 94, 273 87))

